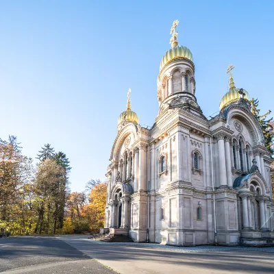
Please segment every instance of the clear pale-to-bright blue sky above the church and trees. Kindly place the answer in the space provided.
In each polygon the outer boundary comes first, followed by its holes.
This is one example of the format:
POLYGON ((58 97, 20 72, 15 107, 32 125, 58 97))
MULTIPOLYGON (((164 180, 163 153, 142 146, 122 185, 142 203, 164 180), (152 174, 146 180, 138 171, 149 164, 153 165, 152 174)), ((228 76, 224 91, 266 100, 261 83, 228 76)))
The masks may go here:
POLYGON ((273 109, 274 1, 0 1, 0 137, 35 158, 49 142, 71 161, 71 189, 104 179, 132 88, 141 125, 158 112, 156 79, 179 20, 206 116, 236 87, 273 109))

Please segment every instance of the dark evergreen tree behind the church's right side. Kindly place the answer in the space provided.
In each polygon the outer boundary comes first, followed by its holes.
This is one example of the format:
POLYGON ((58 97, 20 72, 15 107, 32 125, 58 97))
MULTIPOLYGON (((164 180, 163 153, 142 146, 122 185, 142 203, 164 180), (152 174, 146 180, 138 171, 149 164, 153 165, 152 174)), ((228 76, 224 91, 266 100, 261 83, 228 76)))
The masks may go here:
POLYGON ((259 100, 252 98, 250 102, 251 102, 251 112, 255 116, 256 120, 258 121, 260 127, 262 128, 262 133, 264 134, 264 145, 266 149, 269 150, 269 153, 273 155, 274 132, 273 132, 273 126, 271 125, 273 117, 269 120, 266 120, 266 116, 271 114, 271 110, 266 112, 266 114, 260 115, 260 110, 258 109, 259 100))

